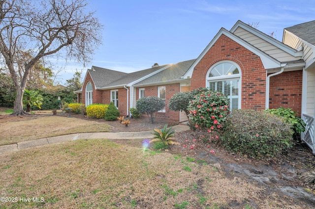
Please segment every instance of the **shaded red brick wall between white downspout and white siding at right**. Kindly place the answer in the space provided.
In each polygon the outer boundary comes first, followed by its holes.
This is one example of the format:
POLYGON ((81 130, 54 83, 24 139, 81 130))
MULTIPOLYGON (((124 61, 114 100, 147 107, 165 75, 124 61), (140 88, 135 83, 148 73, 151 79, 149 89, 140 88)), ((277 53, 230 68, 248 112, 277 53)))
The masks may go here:
POLYGON ((269 108, 291 108, 301 115, 302 70, 270 77, 269 108))

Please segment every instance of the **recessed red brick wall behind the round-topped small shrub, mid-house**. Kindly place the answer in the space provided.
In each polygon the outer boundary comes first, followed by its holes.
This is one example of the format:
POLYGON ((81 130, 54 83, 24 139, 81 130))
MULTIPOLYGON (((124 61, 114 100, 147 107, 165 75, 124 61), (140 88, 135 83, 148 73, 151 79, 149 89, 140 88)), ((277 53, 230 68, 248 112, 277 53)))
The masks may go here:
MULTIPOLYGON (((165 86, 166 98, 165 98, 165 112, 158 112, 156 118, 158 120, 178 122, 179 121, 179 112, 169 110, 167 104, 169 102, 169 99, 174 94, 180 92, 180 84, 174 83, 174 84, 166 84, 166 85, 158 85, 158 86, 165 86)), ((148 97, 148 96, 157 97, 158 96, 158 86, 146 86, 146 87, 144 87, 145 88, 144 95, 146 97, 148 97)), ((136 100, 138 100, 138 98, 139 98, 139 88, 136 88, 136 100)), ((146 115, 144 114, 143 117, 146 117, 146 115)))

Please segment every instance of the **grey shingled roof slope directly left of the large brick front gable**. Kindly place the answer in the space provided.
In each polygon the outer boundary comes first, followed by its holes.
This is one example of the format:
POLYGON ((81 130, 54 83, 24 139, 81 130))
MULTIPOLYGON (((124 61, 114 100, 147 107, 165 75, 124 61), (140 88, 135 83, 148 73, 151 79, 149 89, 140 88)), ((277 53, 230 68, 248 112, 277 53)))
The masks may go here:
POLYGON ((191 59, 183 62, 179 62, 175 65, 172 65, 166 68, 163 71, 158 72, 157 74, 143 79, 134 84, 134 86, 144 86, 149 84, 161 84, 172 81, 180 81, 183 80, 183 76, 188 71, 189 67, 196 59, 191 59))

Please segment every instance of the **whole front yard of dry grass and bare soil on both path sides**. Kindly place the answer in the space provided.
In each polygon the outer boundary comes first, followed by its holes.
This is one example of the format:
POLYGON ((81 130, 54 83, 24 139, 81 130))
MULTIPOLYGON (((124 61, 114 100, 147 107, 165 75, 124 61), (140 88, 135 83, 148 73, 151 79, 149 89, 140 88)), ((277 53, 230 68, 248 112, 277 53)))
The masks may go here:
MULTIPOLYGON (((98 120, 32 117, 0 119, 1 131, 12 131, 1 143, 92 127, 132 131, 117 121, 108 123, 110 127, 98 120)), ((139 127, 147 120, 134 122, 139 127)), ((258 161, 228 154, 219 145, 209 148, 202 135, 176 134, 180 145, 166 151, 143 150, 142 139, 83 139, 0 154, 0 196, 7 197, 0 208, 315 207, 314 190, 299 180, 302 172, 315 168, 307 148, 299 145, 282 159, 258 161), (184 144, 194 144, 194 149, 184 144)))

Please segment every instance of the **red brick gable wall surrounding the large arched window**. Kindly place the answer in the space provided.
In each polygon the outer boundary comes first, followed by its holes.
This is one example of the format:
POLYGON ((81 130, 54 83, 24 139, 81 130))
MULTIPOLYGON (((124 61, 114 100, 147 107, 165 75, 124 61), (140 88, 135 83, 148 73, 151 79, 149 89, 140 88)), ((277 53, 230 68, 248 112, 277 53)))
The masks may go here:
POLYGON ((230 60, 240 66, 242 72, 243 109, 264 109, 266 94, 266 70, 258 55, 247 50, 225 35, 204 55, 194 68, 190 89, 205 87, 209 68, 221 60, 230 60))

